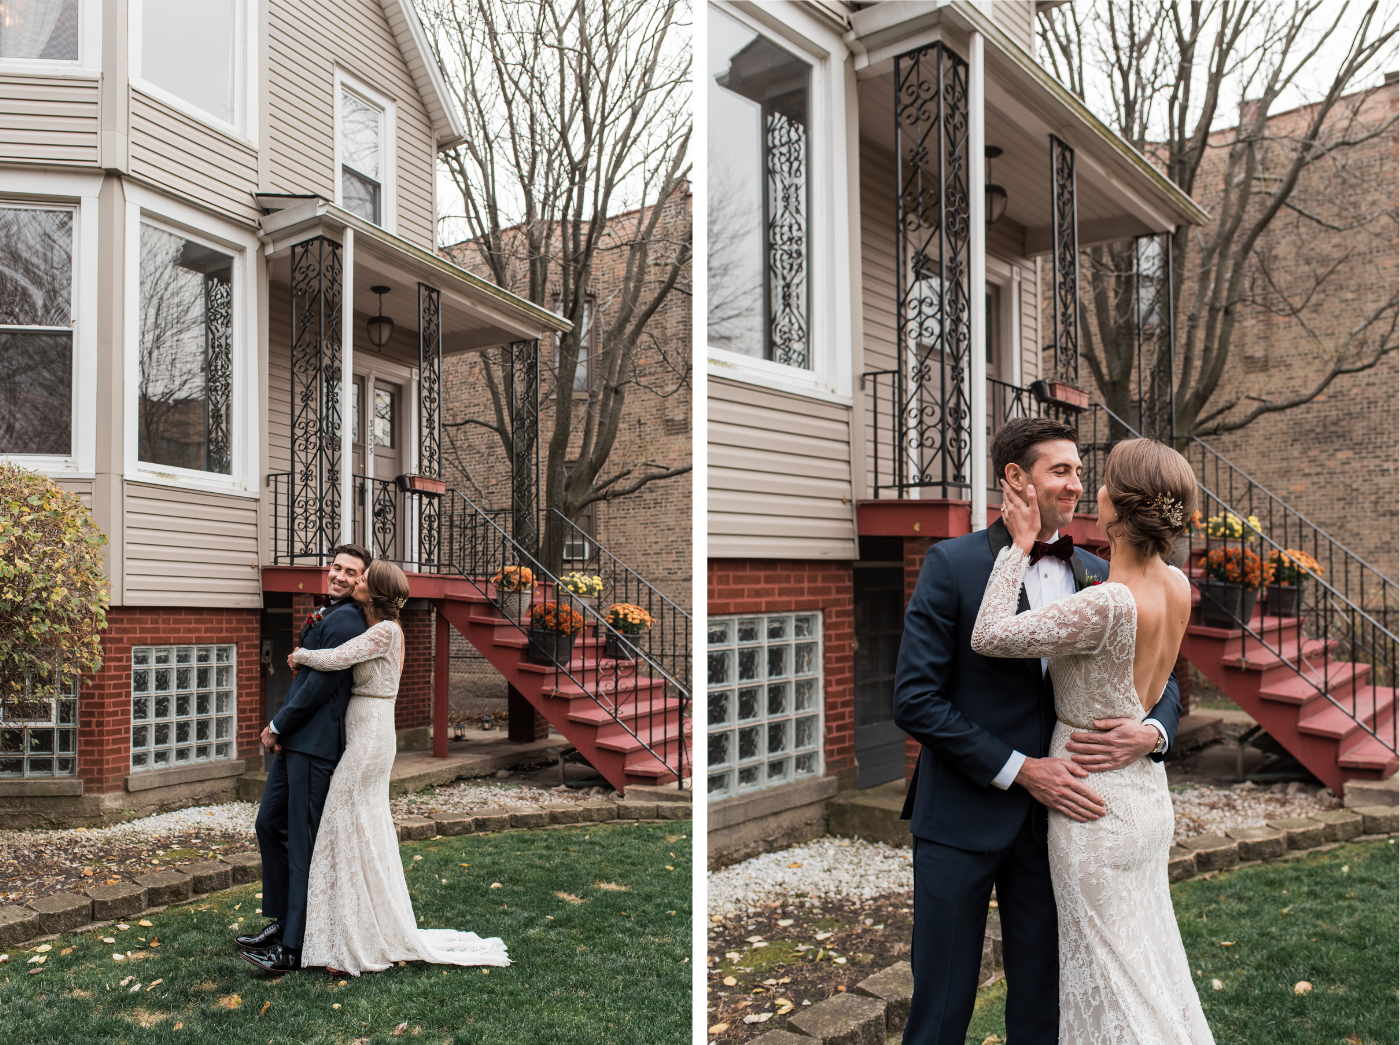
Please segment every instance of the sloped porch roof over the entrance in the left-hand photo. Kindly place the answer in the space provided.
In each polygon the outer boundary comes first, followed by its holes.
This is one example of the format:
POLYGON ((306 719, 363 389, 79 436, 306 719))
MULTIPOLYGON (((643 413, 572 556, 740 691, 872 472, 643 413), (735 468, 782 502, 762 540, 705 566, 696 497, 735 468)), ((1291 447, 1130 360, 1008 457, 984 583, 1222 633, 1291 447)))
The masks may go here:
MULTIPOLYGON (((344 242, 354 230, 351 300, 356 312, 374 315, 378 298, 371 286, 389 287, 385 305, 416 301, 417 284, 442 291, 442 352, 468 352, 515 340, 533 340, 573 329, 547 308, 501 290, 433 251, 410 244, 319 196, 259 196, 270 212, 260 221, 270 275, 291 282, 291 247, 318 235, 344 242)), ((416 308, 416 305, 414 305, 416 308)), ((395 312, 403 317, 402 308, 395 312)), ((392 315, 392 312, 391 312, 392 315)), ((416 319, 414 324, 416 326, 416 319)))

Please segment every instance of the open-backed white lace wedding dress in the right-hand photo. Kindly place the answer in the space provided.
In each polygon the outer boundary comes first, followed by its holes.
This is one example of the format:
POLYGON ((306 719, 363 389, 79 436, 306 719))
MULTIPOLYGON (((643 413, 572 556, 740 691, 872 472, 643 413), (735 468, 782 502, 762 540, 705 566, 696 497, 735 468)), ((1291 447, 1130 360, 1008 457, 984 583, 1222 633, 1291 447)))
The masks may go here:
MULTIPOLYGON (((1137 602, 1098 584, 1016 614, 1030 556, 1001 552, 972 633, 991 657, 1049 657, 1053 758, 1095 719, 1145 712, 1133 686, 1137 602)), ((1050 878, 1060 916, 1060 1045, 1207 1045, 1205 1024, 1172 912, 1166 861, 1175 818, 1161 762, 1140 758, 1088 783, 1107 812, 1075 824, 1050 812, 1050 878)))

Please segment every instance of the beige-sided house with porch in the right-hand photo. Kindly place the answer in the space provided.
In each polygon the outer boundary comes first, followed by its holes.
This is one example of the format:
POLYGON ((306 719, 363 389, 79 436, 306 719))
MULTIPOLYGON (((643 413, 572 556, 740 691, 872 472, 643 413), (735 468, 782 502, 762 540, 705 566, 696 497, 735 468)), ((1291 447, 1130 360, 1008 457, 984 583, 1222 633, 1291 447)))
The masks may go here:
POLYGON ((1086 401, 1039 289, 1205 217, 1040 66, 1036 7, 707 10, 713 861, 899 786, 906 576, 986 525, 1000 424, 1086 401))

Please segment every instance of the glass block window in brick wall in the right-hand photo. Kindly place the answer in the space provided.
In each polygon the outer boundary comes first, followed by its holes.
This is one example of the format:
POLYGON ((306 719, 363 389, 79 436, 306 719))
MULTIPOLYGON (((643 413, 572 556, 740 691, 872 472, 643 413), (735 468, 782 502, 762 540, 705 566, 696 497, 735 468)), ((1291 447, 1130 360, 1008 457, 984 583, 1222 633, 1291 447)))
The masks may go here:
POLYGON ((822 772, 822 615, 708 622, 708 794, 822 772))

